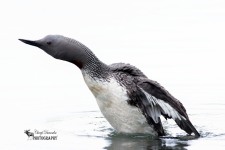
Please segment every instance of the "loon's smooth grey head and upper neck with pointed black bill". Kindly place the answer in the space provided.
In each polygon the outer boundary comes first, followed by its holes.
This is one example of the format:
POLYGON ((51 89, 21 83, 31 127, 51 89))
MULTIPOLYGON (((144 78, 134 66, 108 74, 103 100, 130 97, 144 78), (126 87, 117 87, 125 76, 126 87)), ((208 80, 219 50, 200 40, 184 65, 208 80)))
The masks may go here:
POLYGON ((74 63, 80 69, 90 62, 90 59, 95 57, 94 54, 80 42, 61 35, 47 35, 36 41, 19 40, 26 44, 39 47, 56 59, 74 63))

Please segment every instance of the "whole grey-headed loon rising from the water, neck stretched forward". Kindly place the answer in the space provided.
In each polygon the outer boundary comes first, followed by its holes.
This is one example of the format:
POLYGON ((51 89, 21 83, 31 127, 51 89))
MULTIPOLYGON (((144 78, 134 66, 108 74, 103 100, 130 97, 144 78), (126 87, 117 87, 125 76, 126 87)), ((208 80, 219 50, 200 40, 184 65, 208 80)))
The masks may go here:
POLYGON ((36 41, 19 40, 56 59, 75 64, 103 116, 117 132, 164 136, 160 119, 163 116, 173 119, 187 134, 200 137, 183 104, 135 66, 125 63, 106 65, 88 47, 62 35, 47 35, 36 41))

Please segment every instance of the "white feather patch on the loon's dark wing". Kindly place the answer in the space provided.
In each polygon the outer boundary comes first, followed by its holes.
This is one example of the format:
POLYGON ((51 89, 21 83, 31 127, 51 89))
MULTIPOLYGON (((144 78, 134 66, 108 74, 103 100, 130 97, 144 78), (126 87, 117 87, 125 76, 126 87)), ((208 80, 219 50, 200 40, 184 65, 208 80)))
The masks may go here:
POLYGON ((140 88, 140 89, 145 94, 146 98, 148 99, 148 101, 151 105, 151 109, 147 109, 147 111, 156 123, 158 123, 161 113, 166 114, 169 117, 172 117, 174 120, 175 119, 181 120, 181 118, 185 119, 168 103, 164 102, 161 99, 157 99, 156 97, 152 96, 151 94, 145 92, 145 90, 143 90, 142 88, 140 88))

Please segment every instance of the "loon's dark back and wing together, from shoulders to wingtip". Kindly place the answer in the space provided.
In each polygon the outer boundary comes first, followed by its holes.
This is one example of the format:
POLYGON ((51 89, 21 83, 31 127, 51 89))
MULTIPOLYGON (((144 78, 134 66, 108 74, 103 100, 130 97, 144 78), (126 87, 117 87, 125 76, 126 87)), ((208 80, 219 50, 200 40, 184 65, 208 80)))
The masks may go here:
POLYGON ((200 134, 190 122, 183 104, 155 81, 149 80, 138 68, 124 63, 110 65, 115 77, 128 89, 130 105, 138 107, 159 136, 165 135, 160 116, 172 118, 188 134, 200 134))

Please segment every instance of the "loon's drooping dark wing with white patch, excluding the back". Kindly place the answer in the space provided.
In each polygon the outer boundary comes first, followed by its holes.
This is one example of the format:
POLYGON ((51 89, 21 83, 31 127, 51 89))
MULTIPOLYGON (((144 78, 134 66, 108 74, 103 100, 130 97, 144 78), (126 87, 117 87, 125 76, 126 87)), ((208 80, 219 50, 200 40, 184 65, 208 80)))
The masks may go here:
POLYGON ((200 136, 190 122, 183 104, 169 94, 169 92, 157 82, 145 79, 139 82, 138 88, 145 95, 145 99, 142 99, 142 101, 147 101, 149 103, 146 105, 146 107, 148 107, 147 112, 155 123, 157 123, 160 119, 159 117, 163 115, 166 119, 172 118, 177 125, 188 134, 194 133, 196 137, 200 136))

